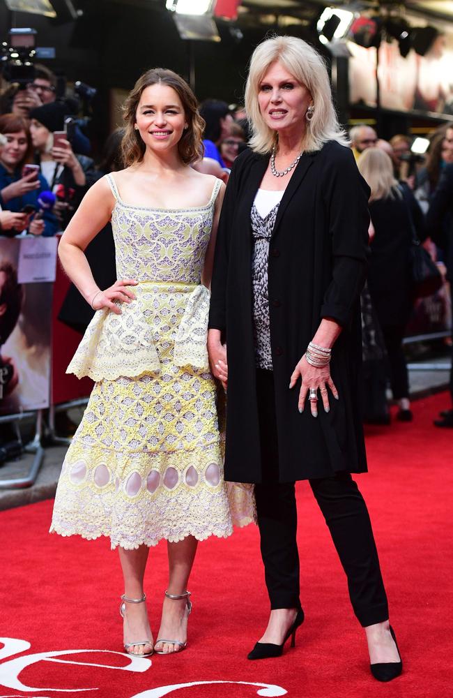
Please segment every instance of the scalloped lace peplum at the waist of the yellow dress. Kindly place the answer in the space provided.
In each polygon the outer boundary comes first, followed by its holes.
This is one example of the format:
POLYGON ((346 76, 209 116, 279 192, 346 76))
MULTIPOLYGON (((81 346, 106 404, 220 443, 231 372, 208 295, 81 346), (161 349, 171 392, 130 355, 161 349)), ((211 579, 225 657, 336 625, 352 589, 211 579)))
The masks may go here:
POLYGON ((204 285, 142 283, 137 296, 121 304, 121 315, 95 313, 66 373, 95 382, 158 373, 155 342, 174 341, 174 364, 209 370, 206 338, 210 292, 204 285))

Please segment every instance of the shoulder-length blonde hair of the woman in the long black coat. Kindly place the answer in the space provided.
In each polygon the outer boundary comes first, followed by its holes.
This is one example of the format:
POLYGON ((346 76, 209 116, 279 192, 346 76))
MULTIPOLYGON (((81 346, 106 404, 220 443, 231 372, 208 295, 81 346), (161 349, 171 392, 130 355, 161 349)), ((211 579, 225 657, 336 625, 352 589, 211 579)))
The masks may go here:
POLYGON ((249 145, 256 153, 266 154, 277 143, 277 133, 266 124, 259 110, 259 85, 272 63, 279 61, 286 70, 305 85, 312 95, 314 113, 307 121, 304 149, 319 150, 328 140, 348 145, 348 137, 341 128, 335 107, 327 68, 323 58, 302 39, 295 36, 274 36, 259 44, 252 54, 249 75, 245 85, 245 109, 252 126, 249 145))

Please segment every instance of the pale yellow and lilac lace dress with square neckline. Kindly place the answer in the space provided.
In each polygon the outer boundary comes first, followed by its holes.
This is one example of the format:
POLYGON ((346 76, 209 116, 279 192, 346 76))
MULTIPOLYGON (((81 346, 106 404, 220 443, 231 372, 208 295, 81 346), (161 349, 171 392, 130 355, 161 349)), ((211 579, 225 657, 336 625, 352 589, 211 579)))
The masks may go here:
POLYGON ((252 486, 223 480, 208 366, 209 291, 200 284, 213 223, 206 206, 116 203, 118 279, 137 299, 95 313, 68 373, 95 380, 63 463, 51 532, 110 537, 112 548, 226 537, 254 521, 252 486))

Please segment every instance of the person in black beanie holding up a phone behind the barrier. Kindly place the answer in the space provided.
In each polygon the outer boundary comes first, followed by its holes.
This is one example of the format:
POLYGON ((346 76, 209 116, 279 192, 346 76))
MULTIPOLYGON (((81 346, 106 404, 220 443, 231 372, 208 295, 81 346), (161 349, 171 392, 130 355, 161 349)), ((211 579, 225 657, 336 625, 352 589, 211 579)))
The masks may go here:
POLYGON ((54 212, 63 228, 68 225, 87 189, 98 179, 93 160, 76 155, 64 133, 67 105, 52 102, 30 112, 30 133, 35 162, 56 194, 54 212))

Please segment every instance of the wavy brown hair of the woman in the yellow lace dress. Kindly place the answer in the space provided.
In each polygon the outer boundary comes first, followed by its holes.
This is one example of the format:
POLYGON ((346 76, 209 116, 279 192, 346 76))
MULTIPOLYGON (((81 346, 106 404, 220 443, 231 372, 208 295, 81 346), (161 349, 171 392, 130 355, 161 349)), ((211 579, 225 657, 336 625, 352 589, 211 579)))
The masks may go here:
POLYGON ((141 94, 146 87, 155 84, 164 84, 172 87, 181 99, 188 128, 178 142, 178 151, 185 165, 190 165, 203 157, 203 131, 204 119, 201 118, 197 105, 197 98, 183 78, 167 68, 152 68, 141 75, 135 83, 123 105, 123 119, 125 121, 125 134, 121 142, 123 161, 125 167, 137 165, 143 160, 146 145, 139 131, 135 129, 137 107, 141 94))

